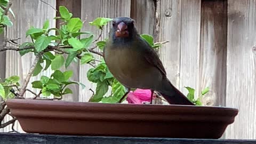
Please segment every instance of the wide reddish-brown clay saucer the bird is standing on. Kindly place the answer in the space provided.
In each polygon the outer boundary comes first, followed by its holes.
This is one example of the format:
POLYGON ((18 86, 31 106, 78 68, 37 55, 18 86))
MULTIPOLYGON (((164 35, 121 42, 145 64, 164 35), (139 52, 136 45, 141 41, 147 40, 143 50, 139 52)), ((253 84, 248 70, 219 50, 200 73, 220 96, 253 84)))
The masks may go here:
POLYGON ((41 134, 218 139, 237 109, 9 99, 23 131, 41 134))

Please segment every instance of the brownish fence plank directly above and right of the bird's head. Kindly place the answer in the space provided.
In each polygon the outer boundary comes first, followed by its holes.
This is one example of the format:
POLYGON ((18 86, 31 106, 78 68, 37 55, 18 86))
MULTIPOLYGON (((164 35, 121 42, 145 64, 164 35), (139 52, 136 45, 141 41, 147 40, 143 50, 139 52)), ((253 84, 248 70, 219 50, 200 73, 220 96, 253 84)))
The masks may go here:
POLYGON ((131 18, 135 20, 139 34, 154 36, 155 3, 152 0, 131 0, 131 18))

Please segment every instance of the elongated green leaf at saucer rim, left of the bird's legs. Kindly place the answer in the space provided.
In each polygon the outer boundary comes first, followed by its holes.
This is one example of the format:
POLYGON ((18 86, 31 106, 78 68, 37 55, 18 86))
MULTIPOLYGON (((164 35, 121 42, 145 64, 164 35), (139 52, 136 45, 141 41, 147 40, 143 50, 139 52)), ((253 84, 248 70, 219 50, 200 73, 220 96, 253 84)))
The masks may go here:
POLYGON ((98 82, 96 87, 96 93, 93 95, 92 99, 90 101, 92 102, 99 102, 103 98, 103 96, 108 91, 108 84, 106 81, 104 82, 98 82))

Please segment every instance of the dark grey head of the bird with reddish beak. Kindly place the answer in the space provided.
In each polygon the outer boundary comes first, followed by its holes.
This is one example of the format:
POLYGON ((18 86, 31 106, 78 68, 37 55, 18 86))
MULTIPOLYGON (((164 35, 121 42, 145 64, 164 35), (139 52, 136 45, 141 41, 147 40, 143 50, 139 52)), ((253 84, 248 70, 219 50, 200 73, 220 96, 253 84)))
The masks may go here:
POLYGON ((118 17, 112 21, 110 35, 113 39, 132 39, 137 35, 137 30, 134 26, 134 20, 127 17, 118 17))

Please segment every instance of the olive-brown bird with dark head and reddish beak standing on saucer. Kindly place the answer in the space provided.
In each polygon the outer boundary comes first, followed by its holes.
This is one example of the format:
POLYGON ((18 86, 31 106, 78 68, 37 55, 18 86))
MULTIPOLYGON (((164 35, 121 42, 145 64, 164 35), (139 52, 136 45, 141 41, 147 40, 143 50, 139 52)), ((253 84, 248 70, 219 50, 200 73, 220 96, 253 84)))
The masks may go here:
POLYGON ((117 17, 111 24, 103 58, 110 73, 127 87, 127 92, 131 88, 150 89, 152 94, 161 93, 171 105, 194 105, 166 77, 158 54, 138 34, 132 18, 117 17))

